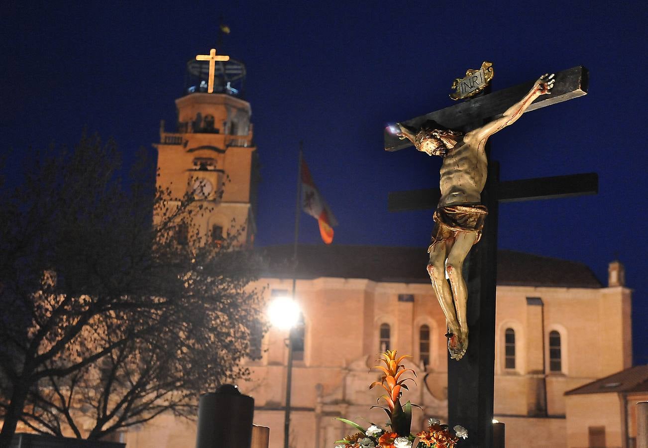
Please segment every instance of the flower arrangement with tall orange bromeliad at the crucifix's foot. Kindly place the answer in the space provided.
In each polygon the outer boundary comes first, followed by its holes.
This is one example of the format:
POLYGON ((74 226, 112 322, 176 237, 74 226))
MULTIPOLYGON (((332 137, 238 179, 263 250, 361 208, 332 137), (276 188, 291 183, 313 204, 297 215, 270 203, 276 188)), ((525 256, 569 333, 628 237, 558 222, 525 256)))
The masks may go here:
POLYGON ((429 419, 428 427, 417 434, 411 434, 411 407, 410 401, 404 405, 400 404, 402 390, 409 390, 407 380, 414 381, 411 377, 403 377, 404 373, 411 371, 416 377, 416 372, 406 369, 402 360, 411 358, 409 355, 403 355, 397 358, 396 350, 388 350, 380 353, 381 359, 378 362, 384 362, 384 366, 374 366, 373 369, 382 371, 383 375, 380 381, 374 381, 369 385, 369 389, 375 386, 382 386, 387 394, 381 395, 378 401, 384 400, 385 406, 372 406, 371 408, 382 408, 388 415, 389 421, 386 426, 389 430, 383 429, 374 423, 368 428, 364 428, 358 423, 345 418, 338 420, 351 425, 358 430, 356 434, 346 436, 335 443, 336 448, 413 448, 413 443, 417 442, 417 448, 455 448, 459 438, 467 438, 468 431, 457 425, 452 430, 448 425, 442 425, 438 419, 429 419))

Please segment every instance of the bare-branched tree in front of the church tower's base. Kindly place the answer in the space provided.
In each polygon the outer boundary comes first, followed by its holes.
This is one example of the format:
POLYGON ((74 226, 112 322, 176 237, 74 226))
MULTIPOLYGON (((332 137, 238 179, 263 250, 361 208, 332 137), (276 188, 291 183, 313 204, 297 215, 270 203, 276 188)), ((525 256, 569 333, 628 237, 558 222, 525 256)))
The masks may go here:
POLYGON ((0 198, 0 446, 18 421, 96 439, 193 414, 200 392, 247 374, 257 260, 195 229, 178 244, 207 211, 189 193, 156 190, 145 156, 122 179, 97 137, 27 168, 0 198))

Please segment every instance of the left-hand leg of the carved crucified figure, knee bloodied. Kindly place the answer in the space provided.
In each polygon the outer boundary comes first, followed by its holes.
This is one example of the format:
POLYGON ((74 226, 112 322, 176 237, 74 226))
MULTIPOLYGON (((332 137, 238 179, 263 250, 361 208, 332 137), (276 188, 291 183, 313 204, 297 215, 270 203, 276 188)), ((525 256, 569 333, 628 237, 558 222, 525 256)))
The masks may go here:
MULTIPOLYGON (((459 346, 461 329, 454 311, 452 291, 445 277, 446 244, 448 241, 439 241, 430 248, 430 263, 428 263, 428 274, 432 280, 432 287, 437 294, 439 305, 443 310, 446 322, 448 323, 448 347, 459 346)), ((448 244, 449 245, 449 244, 448 244)))

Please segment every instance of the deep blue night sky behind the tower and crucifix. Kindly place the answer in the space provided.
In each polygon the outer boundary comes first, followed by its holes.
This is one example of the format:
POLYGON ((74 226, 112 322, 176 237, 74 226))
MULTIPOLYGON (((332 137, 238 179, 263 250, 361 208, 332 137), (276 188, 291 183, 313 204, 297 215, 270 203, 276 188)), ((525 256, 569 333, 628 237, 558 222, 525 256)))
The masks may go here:
MULTIPOLYGON (((333 244, 425 250, 431 211, 388 213, 387 194, 437 185, 440 160, 385 152, 384 126, 450 106, 452 80, 483 60, 494 89, 586 66, 588 95, 525 114, 492 137, 492 155, 502 180, 598 172, 599 194, 502 204, 499 244, 581 261, 603 283, 618 253, 634 289, 635 363, 648 362, 645 2, 64 4, 3 2, 2 146, 73 145, 87 126, 124 152, 150 147, 159 120, 175 121, 185 62, 215 45, 224 16, 218 53, 248 69, 261 246, 292 241, 303 140, 340 222, 333 244)), ((305 215, 300 241, 321 242, 305 215)))

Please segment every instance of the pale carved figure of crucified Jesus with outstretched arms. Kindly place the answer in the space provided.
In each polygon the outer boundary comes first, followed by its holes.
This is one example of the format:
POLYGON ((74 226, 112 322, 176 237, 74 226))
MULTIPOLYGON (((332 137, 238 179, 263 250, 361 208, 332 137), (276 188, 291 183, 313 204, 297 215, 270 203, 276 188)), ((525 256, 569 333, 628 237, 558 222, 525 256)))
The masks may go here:
POLYGON ((452 359, 461 359, 468 348, 466 320, 467 287, 461 273, 470 248, 480 240, 488 214, 481 205, 481 191, 486 183, 487 139, 514 123, 540 95, 551 93, 555 80, 543 75, 520 101, 502 117, 462 134, 446 129, 432 120, 421 129, 398 124, 397 135, 407 138, 422 152, 441 156, 441 200, 434 212, 435 228, 428 248, 428 274, 448 324, 448 351, 452 359))

